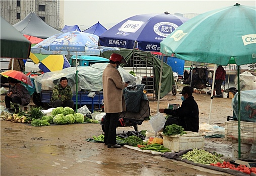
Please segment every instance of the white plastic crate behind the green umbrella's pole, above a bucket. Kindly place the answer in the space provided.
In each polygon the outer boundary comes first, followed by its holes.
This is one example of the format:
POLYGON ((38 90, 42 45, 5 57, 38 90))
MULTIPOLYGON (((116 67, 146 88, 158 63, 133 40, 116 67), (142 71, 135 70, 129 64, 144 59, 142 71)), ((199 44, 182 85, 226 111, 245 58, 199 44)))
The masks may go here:
MULTIPOLYGON (((256 144, 256 123, 240 122, 240 142, 256 144)), ((225 141, 238 142, 238 121, 225 123, 225 141)))

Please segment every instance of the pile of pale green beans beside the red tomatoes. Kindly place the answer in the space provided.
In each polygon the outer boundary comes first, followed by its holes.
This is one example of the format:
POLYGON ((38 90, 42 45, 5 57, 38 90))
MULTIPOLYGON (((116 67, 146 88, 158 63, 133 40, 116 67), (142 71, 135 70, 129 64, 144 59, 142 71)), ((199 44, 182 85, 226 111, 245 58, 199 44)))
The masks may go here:
POLYGON ((183 154, 180 156, 181 159, 187 159, 189 161, 193 161, 195 163, 208 164, 223 162, 224 160, 220 157, 206 151, 203 149, 194 148, 193 150, 183 154))

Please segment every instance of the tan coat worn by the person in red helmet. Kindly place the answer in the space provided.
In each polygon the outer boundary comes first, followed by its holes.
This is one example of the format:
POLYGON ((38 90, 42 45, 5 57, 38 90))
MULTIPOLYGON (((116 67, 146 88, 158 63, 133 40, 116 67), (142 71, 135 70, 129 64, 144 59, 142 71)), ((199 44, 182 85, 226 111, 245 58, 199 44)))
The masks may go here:
POLYGON ((126 111, 123 96, 123 82, 119 71, 111 64, 108 64, 103 71, 103 96, 105 113, 120 113, 126 111))

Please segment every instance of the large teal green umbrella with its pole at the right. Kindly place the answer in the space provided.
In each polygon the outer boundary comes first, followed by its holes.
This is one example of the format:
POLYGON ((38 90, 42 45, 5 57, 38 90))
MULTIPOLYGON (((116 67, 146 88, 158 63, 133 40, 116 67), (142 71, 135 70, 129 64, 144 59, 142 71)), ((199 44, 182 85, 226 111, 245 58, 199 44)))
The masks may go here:
MULTIPOLYGON (((240 65, 256 63, 255 7, 213 10, 187 21, 164 39, 161 52, 193 62, 238 65, 238 154, 240 157, 240 65)), ((214 83, 214 82, 213 82, 214 83)))

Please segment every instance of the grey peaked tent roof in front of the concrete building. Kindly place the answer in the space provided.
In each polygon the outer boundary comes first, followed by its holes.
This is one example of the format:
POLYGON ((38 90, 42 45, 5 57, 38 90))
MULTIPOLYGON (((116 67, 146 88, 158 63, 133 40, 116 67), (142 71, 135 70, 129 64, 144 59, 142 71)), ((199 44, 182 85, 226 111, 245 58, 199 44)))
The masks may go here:
POLYGON ((23 20, 13 25, 21 34, 46 39, 55 34, 62 33, 47 25, 34 12, 28 14, 23 20))

